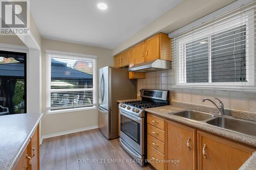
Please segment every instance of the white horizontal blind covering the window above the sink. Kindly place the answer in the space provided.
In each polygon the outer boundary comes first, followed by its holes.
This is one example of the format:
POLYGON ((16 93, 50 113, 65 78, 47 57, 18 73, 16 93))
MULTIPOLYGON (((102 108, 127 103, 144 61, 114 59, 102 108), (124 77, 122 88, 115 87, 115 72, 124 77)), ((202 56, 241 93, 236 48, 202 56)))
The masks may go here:
POLYGON ((255 89, 255 7, 250 2, 172 37, 177 86, 255 89))

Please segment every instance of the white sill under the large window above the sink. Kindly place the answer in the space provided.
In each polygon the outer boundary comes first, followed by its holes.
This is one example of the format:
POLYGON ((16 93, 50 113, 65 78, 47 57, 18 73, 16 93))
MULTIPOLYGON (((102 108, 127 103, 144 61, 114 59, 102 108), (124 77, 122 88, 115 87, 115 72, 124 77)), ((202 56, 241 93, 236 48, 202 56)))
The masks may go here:
POLYGON ((176 85, 171 86, 170 89, 201 89, 201 90, 223 90, 223 91, 240 91, 245 93, 256 93, 256 87, 241 87, 241 86, 188 86, 176 85))

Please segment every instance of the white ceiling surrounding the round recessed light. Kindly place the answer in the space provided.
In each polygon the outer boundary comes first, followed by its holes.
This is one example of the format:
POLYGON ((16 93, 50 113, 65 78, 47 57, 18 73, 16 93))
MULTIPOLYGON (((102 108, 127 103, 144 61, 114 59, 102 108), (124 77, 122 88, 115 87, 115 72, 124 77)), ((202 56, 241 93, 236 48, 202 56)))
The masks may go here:
POLYGON ((113 49, 181 1, 32 0, 30 9, 44 38, 113 49))

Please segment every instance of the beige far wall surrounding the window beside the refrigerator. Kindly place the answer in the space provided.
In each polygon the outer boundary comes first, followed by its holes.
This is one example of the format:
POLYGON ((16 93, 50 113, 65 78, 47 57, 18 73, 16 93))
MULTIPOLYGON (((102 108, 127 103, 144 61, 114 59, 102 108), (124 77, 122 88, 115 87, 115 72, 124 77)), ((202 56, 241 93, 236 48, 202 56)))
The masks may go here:
POLYGON ((46 50, 89 54, 97 56, 97 68, 113 65, 112 50, 70 42, 41 39, 42 117, 41 135, 71 131, 98 125, 98 111, 86 110, 59 114, 46 114, 46 50))

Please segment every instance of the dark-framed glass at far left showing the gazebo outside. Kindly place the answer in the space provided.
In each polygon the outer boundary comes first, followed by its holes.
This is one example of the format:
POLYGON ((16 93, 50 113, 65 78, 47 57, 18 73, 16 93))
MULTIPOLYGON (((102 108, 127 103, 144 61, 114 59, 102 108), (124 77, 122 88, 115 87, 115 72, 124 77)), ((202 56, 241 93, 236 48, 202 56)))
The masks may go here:
POLYGON ((26 56, 0 51, 0 115, 26 113, 26 56))

